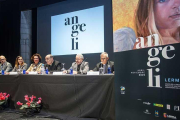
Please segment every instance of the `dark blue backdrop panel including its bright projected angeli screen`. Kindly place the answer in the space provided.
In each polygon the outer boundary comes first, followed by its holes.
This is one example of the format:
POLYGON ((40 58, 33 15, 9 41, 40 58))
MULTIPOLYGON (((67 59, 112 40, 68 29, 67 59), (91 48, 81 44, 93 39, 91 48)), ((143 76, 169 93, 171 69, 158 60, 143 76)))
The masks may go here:
POLYGON ((107 52, 113 60, 112 1, 67 0, 37 8, 37 52, 69 69, 82 53, 92 70, 107 52))

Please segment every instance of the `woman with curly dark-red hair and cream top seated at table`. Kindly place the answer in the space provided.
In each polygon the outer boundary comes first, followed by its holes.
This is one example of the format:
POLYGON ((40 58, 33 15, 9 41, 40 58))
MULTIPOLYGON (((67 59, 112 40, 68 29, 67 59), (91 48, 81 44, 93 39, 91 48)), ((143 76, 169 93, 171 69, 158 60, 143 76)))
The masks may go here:
POLYGON ((41 66, 42 66, 42 63, 40 63, 41 62, 41 56, 36 53, 31 57, 31 61, 33 63, 30 65, 30 67, 28 68, 26 73, 27 74, 29 72, 38 72, 38 73, 40 73, 41 72, 41 66))

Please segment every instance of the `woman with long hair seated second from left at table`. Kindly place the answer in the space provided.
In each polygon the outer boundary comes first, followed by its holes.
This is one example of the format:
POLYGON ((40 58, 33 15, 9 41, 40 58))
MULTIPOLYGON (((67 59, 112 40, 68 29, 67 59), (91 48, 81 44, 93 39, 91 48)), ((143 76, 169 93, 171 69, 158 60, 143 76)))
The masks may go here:
POLYGON ((15 66, 12 72, 22 72, 27 69, 27 64, 24 63, 22 56, 17 56, 15 66))

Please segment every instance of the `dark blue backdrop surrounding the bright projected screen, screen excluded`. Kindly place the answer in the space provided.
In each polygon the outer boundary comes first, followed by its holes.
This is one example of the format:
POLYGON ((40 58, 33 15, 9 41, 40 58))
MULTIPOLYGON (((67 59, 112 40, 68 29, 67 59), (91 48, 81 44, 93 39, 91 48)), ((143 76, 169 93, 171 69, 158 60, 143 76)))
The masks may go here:
MULTIPOLYGON (((112 1, 111 0, 67 0, 53 5, 43 6, 37 9, 37 52, 44 56, 51 53, 51 16, 84 10, 97 6, 104 6, 104 50, 113 60, 113 36, 112 36, 112 1)), ((94 28, 96 29, 96 27, 94 28)), ((86 39, 86 38, 84 38, 86 39)), ((96 43, 94 43, 96 44, 96 43)), ((92 48, 93 49, 93 46, 92 48)), ((89 62, 90 69, 100 61, 100 53, 84 54, 89 62)), ((56 60, 65 63, 68 69, 74 62, 74 55, 55 56, 56 60)))

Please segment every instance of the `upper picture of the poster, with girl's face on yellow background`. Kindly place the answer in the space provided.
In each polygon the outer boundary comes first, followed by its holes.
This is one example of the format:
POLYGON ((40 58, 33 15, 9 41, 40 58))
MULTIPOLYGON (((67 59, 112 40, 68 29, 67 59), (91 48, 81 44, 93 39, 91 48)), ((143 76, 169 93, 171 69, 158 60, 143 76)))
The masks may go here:
POLYGON ((179 0, 113 0, 114 52, 180 43, 179 0))

